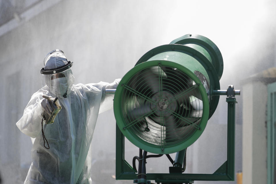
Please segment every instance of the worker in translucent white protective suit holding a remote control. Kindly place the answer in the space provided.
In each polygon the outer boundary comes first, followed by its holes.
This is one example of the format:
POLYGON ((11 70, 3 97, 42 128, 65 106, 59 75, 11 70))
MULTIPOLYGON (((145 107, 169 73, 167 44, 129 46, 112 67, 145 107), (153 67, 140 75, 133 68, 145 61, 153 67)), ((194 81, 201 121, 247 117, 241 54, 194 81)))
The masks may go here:
POLYGON ((60 50, 51 51, 44 65, 41 73, 45 86, 32 95, 16 123, 33 142, 32 164, 24 184, 91 183, 93 131, 98 114, 113 106, 113 95, 106 94, 105 89, 115 89, 120 80, 73 85, 72 63, 60 50), (62 109, 52 124, 43 121, 42 126, 43 112, 50 115, 53 111, 43 95, 58 97, 62 109))

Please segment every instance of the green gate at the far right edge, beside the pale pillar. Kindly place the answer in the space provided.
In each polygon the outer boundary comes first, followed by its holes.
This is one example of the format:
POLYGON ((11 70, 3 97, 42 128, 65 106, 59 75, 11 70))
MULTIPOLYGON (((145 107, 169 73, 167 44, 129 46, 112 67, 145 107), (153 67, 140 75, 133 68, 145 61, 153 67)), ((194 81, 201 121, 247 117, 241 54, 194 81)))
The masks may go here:
POLYGON ((267 86, 267 184, 276 184, 276 82, 267 86))

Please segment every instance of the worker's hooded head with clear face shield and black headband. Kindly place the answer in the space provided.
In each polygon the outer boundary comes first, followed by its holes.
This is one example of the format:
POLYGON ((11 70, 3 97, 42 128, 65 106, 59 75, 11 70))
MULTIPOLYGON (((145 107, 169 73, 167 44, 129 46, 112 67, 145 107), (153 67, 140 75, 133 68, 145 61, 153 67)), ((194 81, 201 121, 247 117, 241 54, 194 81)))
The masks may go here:
MULTIPOLYGON (((67 61, 61 50, 53 50, 44 59, 44 68, 41 69, 43 86, 47 86, 49 92, 55 97, 67 97, 74 83, 71 70, 72 63, 67 61)), ((54 97, 53 96, 53 97, 54 97)))

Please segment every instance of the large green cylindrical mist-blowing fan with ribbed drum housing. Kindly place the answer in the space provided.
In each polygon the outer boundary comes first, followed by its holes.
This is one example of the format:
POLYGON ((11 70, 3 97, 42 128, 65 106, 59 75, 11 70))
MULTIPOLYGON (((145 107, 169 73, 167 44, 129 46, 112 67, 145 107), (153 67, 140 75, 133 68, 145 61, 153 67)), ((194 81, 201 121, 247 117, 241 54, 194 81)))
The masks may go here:
POLYGON ((185 35, 147 52, 122 78, 114 96, 117 125, 134 145, 156 154, 187 148, 218 104, 223 60, 216 45, 185 35))

